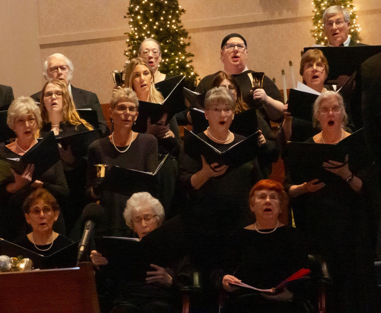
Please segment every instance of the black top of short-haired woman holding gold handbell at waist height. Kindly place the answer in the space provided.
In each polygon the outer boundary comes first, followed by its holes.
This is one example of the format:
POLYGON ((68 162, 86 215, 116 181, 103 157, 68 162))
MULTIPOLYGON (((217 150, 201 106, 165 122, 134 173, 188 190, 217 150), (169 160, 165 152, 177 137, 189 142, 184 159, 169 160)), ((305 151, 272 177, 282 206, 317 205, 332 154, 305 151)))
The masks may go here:
MULTIPOLYGON (((123 151, 126 147, 118 147, 118 149, 123 151)), ((124 153, 120 153, 114 148, 108 136, 94 141, 88 152, 88 188, 91 188, 96 179, 95 164, 107 164, 109 167, 115 165, 142 172, 155 172, 158 166, 157 140, 152 135, 138 133, 131 143, 131 147, 124 153)), ((126 188, 130 183, 133 182, 126 181, 126 188)), ((102 191, 100 204, 106 210, 106 220, 100 235, 124 237, 130 235, 130 230, 122 215, 126 201, 130 196, 102 191)))

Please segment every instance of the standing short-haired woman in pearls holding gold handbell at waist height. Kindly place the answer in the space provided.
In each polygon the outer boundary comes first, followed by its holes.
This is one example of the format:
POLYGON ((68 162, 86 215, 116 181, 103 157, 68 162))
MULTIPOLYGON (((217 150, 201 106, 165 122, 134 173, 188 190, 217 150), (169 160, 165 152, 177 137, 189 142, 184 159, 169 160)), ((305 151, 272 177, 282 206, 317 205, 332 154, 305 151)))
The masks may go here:
MULTIPOLYGON (((128 196, 102 190, 103 178, 96 175, 96 164, 124 167, 141 172, 155 172, 158 166, 157 140, 150 134, 136 133, 131 129, 138 118, 139 101, 130 88, 117 89, 111 98, 109 115, 114 124, 110 136, 94 141, 88 152, 87 186, 92 201, 100 200, 106 209, 106 221, 99 234, 128 237, 123 210, 128 196)), ((134 182, 126 182, 128 185, 134 182)), ((131 195, 131 194, 130 194, 131 195)))

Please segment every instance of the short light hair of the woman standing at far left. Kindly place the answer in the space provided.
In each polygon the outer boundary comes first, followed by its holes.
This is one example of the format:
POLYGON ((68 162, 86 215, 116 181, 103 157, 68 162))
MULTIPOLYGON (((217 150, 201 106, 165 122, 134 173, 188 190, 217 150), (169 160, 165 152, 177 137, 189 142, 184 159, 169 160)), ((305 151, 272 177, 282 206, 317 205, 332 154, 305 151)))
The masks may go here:
POLYGON ((39 106, 30 97, 18 97, 12 101, 12 104, 8 108, 6 124, 8 124, 9 128, 14 130, 14 120, 17 117, 25 115, 28 116, 29 114, 34 115, 37 123, 37 129, 40 129, 42 127, 42 118, 39 106))

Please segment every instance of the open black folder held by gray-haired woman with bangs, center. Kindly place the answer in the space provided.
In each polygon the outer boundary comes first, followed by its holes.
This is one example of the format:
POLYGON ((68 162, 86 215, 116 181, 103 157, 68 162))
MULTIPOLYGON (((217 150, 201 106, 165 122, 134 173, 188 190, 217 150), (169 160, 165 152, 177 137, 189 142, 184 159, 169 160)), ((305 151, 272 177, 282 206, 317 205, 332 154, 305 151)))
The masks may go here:
POLYGON ((184 128, 184 151, 198 162, 203 155, 208 164, 218 163, 219 166, 226 164, 232 168, 239 167, 256 157, 259 149, 258 136, 259 131, 234 144, 226 151, 219 151, 184 128))

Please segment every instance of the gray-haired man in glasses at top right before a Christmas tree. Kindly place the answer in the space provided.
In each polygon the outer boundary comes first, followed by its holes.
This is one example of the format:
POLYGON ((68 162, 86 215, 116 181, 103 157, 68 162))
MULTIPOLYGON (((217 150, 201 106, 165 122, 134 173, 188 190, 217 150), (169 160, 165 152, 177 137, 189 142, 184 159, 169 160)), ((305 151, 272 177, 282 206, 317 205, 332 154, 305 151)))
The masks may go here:
POLYGON ((330 47, 364 46, 349 37, 351 25, 349 12, 339 5, 330 6, 323 14, 325 35, 330 47))

